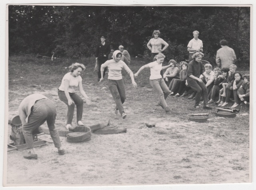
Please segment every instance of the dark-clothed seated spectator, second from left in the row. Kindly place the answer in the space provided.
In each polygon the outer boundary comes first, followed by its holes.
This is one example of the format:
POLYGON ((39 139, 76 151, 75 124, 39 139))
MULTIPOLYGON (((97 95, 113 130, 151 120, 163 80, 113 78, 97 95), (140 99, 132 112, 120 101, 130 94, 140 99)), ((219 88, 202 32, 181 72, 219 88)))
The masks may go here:
MULTIPOLYGON (((188 63, 187 62, 180 62, 180 79, 174 78, 172 82, 169 85, 170 95, 175 94, 175 97, 180 96, 185 88, 188 88, 186 86, 186 79, 187 79, 187 69, 188 69, 188 63)), ((182 96, 183 97, 183 96, 182 96)))

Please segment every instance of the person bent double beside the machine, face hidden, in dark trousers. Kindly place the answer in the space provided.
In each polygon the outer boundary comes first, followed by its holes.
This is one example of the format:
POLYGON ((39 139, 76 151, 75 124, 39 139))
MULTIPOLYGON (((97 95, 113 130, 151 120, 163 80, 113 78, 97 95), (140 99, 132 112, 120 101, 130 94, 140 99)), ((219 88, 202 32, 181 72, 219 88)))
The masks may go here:
POLYGON ((28 154, 23 156, 24 158, 30 160, 37 159, 32 133, 44 124, 45 121, 47 122, 54 146, 58 148, 58 154, 65 154, 60 143, 58 130, 54 125, 56 106, 51 100, 42 94, 31 94, 22 100, 18 112, 22 122, 22 133, 29 150, 28 154))

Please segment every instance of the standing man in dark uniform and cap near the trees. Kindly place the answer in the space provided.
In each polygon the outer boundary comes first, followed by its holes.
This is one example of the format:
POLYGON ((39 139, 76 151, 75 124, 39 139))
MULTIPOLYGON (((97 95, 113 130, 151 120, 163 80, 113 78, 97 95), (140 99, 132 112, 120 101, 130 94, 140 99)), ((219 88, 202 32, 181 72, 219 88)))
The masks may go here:
MULTIPOLYGON (((100 37, 101 43, 97 45, 95 57, 98 60, 98 81, 100 81, 101 73, 100 67, 101 65, 108 60, 108 54, 110 54, 110 44, 105 42, 105 36, 100 37)), ((103 72, 103 78, 105 76, 107 68, 105 68, 103 72)))

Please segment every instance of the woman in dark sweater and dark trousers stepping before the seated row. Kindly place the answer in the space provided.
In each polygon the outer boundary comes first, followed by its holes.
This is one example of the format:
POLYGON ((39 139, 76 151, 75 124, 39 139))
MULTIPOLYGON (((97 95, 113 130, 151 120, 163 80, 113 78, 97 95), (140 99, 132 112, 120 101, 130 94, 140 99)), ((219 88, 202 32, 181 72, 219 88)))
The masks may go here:
MULTIPOLYGON (((192 58, 193 60, 188 64, 187 82, 190 88, 196 92, 194 108, 199 108, 200 98, 203 97, 204 109, 212 109, 208 104, 208 92, 206 85, 199 78, 203 74, 203 64, 201 62, 204 54, 202 52, 196 52, 192 58)), ((204 76, 206 77, 206 76, 204 76)))

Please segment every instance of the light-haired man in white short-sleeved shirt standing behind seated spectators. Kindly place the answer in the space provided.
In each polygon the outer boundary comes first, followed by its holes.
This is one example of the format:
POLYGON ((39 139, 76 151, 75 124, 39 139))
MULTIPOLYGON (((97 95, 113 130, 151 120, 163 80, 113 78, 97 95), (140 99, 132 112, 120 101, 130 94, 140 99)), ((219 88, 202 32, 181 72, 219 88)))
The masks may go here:
POLYGON ((189 58, 188 63, 193 60, 192 55, 196 52, 203 52, 203 42, 198 39, 199 32, 195 30, 193 32, 194 38, 188 42, 189 58))

